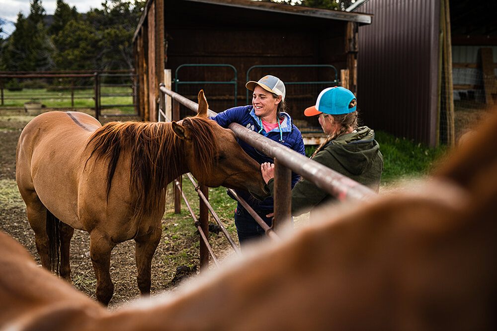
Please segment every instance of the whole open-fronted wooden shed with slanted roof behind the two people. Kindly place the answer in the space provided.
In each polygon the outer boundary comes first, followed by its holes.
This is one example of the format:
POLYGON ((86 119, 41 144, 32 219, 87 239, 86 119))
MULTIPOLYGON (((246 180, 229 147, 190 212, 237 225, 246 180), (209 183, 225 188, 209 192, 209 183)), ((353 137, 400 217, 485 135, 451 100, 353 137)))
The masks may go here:
POLYGON ((369 14, 273 2, 148 0, 133 37, 139 113, 157 120, 161 82, 191 100, 204 89, 221 112, 249 104, 245 83, 273 74, 306 143, 316 143, 321 128, 303 109, 325 87, 357 90, 358 31, 371 22, 369 14))

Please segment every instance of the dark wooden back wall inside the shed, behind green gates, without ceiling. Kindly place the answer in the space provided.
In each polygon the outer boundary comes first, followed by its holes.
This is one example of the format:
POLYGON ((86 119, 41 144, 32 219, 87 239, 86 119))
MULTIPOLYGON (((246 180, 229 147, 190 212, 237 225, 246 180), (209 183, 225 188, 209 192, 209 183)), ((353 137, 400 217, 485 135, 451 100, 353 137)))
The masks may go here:
MULTIPOLYGON (((344 31, 343 27, 336 29, 344 31)), ((262 31, 238 30, 226 33, 223 30, 202 29, 192 33, 187 29, 167 28, 167 34, 173 39, 168 43, 167 67, 172 74, 176 68, 183 64, 229 64, 237 70, 237 105, 245 105, 247 71, 251 66, 260 65, 314 65, 331 64, 339 70, 346 67, 346 57, 343 52, 343 36, 329 37, 313 35, 308 31, 275 31, 270 36, 262 31), (219 41, 222 42, 219 42, 219 41), (272 46, 275 40, 289 40, 272 46), (333 47, 331 45, 340 45, 333 47)), ((183 81, 226 81, 231 79, 232 70, 212 67, 183 67, 178 71, 183 81)), ((287 82, 298 81, 325 81, 334 79, 331 70, 316 68, 255 68, 250 71, 249 79, 258 80, 265 74, 273 74, 287 82)), ((338 75, 339 78, 339 75, 338 75)), ((192 86, 194 87, 194 86, 192 86)), ((317 94, 296 91, 294 86, 287 84, 287 101, 292 105, 295 98, 306 97, 307 103, 315 102, 317 94), (309 94, 309 95, 307 95, 309 94)), ((198 89, 199 87, 197 87, 198 89)), ((230 86, 208 85, 205 86, 206 96, 211 100, 214 95, 233 94, 230 86)), ((185 88, 183 88, 185 90, 185 88)), ((318 92, 319 93, 319 92, 318 92)), ((194 95, 195 91, 190 94, 194 95)), ((302 101, 302 100, 300 100, 302 101)), ((214 101, 211 109, 224 110, 223 106, 217 108, 214 101)), ((224 106, 226 107, 226 106, 224 106)), ((297 114, 297 112, 296 112, 297 114)), ((298 113, 298 115, 301 115, 298 113)), ((299 116, 296 116, 297 118, 299 116)))

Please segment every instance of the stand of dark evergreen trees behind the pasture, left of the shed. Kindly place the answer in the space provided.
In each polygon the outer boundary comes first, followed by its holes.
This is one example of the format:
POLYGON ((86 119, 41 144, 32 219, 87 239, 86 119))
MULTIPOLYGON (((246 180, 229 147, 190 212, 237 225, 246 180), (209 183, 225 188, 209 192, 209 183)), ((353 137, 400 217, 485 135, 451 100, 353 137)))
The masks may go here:
POLYGON ((83 18, 75 7, 58 0, 48 30, 42 1, 31 1, 29 16, 19 13, 14 32, 1 43, 2 70, 133 67, 132 38, 146 1, 105 0, 103 9, 93 9, 83 18))

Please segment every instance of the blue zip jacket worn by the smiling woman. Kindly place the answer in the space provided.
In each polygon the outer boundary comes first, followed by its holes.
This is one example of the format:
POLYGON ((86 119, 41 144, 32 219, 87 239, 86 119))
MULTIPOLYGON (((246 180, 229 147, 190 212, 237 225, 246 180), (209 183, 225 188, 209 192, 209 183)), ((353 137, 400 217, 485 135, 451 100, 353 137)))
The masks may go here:
MULTIPOLYGON (((302 139, 302 133, 300 133, 299 129, 297 129, 297 127, 293 125, 292 118, 290 117, 290 115, 282 112, 281 116, 284 117, 284 120, 280 125, 281 132, 279 128, 275 128, 269 132, 266 132, 264 128, 262 128, 260 134, 264 135, 265 137, 271 140, 279 142, 299 152, 300 154, 305 155, 305 146, 304 146, 304 140, 302 139), (280 141, 281 137, 283 138, 282 141, 280 141)), ((212 117, 211 119, 216 121, 223 128, 228 128, 228 126, 232 123, 238 123, 255 132, 259 132, 261 129, 259 124, 260 123, 259 118, 255 116, 255 112, 251 105, 227 109, 224 112, 219 113, 218 115, 212 117)), ((245 152, 248 155, 250 155, 250 157, 253 158, 255 161, 257 161, 259 164, 262 164, 264 162, 273 163, 272 157, 267 156, 262 152, 256 150, 247 142, 238 139, 238 143, 243 148, 243 150, 245 150, 245 152)), ((299 179, 300 176, 292 172, 292 188, 299 181, 299 179)), ((245 191, 237 191, 237 194, 240 197, 242 197, 245 201, 247 201, 247 203, 255 211, 265 212, 273 210, 274 201, 272 197, 269 197, 263 201, 259 201, 251 197, 250 194, 245 191)), ((239 206, 241 205, 239 204, 239 206)))

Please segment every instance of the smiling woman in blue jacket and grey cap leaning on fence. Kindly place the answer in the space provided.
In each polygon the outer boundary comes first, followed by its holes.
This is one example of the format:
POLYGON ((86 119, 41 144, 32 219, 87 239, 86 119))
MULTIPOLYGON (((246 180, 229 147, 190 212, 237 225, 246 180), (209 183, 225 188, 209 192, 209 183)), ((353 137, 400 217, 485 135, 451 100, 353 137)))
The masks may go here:
MULTIPOLYGON (((246 87, 253 91, 251 105, 230 108, 212 119, 223 128, 227 128, 231 123, 238 123, 305 155, 302 134, 293 125, 290 115, 283 111, 285 108, 285 84, 278 77, 267 75, 258 81, 249 81, 246 87)), ((259 164, 273 162, 272 157, 256 150, 247 142, 240 139, 238 142, 247 154, 259 164)), ((292 188, 298 180, 299 175, 292 173, 292 188)), ((271 218, 266 217, 266 215, 273 212, 274 201, 272 197, 259 201, 252 198, 248 192, 237 191, 237 194, 247 201, 267 225, 271 226, 271 218)), ((235 210, 235 225, 240 245, 264 235, 264 230, 240 202, 235 210)))

